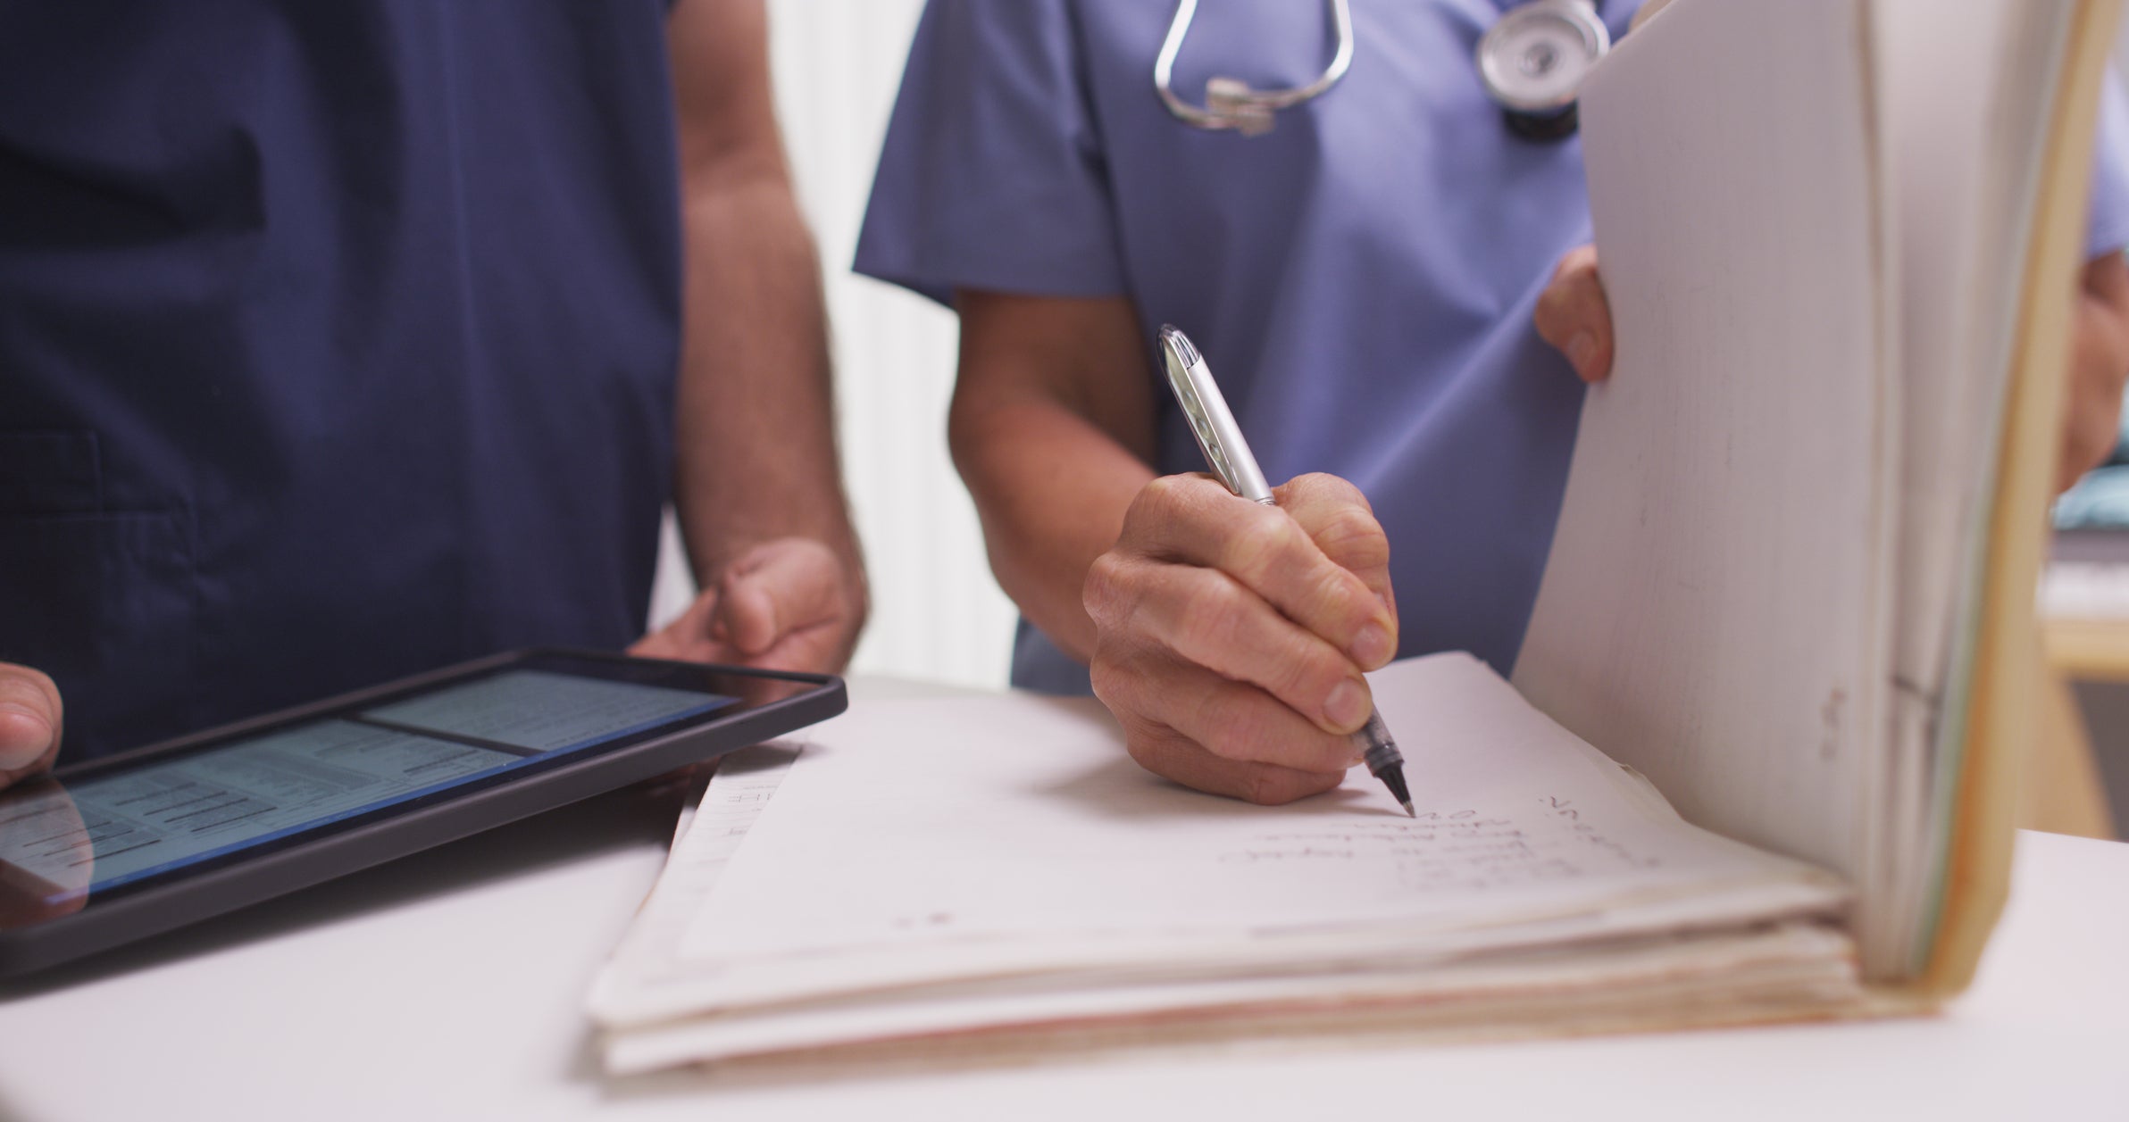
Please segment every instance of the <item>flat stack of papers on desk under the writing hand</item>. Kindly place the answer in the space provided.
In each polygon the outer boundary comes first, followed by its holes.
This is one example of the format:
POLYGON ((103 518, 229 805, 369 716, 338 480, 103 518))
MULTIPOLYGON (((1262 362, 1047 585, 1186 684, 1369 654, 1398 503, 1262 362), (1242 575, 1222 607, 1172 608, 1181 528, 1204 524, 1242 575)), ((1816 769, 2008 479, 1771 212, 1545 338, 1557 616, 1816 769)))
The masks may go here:
POLYGON ((1469 656, 1375 688, 1418 820, 1365 773, 1284 809, 1175 788, 1090 700, 873 705, 822 726, 781 786, 720 775, 594 990, 607 1065, 1856 1001, 1835 877, 1684 824, 1469 656))

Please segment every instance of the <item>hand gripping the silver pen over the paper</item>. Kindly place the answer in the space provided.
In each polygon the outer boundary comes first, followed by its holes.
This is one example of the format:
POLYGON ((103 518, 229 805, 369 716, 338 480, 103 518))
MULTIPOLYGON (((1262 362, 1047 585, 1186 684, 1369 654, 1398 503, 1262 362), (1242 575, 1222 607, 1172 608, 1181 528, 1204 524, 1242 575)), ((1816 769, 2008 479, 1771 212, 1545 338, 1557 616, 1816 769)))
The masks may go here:
POLYGON ((1354 735, 1373 713, 1360 675, 1397 651, 1390 547, 1343 479, 1265 488, 1275 507, 1235 494, 1173 475, 1133 500, 1086 581, 1094 692, 1145 769, 1288 803, 1360 762, 1354 735))

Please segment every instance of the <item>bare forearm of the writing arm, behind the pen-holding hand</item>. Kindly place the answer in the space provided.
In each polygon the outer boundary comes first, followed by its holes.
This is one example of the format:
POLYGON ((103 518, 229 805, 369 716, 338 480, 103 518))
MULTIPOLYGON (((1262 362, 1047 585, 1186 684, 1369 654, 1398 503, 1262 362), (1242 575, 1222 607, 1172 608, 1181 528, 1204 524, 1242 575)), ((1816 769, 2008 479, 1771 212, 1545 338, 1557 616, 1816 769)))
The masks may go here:
POLYGON ((1094 622, 1079 603, 1086 571, 1116 545, 1124 511, 1154 468, 1043 400, 964 407, 956 398, 952 445, 999 585, 1064 654, 1088 660, 1094 622))

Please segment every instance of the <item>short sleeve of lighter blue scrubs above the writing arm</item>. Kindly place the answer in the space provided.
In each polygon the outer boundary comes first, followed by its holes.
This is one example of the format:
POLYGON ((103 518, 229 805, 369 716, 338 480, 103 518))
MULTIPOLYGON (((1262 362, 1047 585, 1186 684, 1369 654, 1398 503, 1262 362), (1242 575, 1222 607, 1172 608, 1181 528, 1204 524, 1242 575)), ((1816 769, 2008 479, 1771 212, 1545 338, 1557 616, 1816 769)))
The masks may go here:
POLYGON ((1069 0, 930 0, 856 270, 947 304, 1126 292, 1084 75, 1069 0))

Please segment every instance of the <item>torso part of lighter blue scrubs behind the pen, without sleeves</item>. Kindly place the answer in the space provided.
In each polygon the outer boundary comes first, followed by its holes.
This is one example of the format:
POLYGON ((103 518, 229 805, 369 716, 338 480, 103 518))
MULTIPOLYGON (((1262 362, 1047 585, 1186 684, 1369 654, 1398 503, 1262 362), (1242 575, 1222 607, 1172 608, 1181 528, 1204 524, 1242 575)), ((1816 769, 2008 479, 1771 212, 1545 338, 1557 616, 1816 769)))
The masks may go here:
MULTIPOLYGON (((1544 573, 1582 385, 1531 313, 1590 241, 1578 138, 1514 136, 1475 66, 1507 0, 1354 0, 1352 70, 1265 136, 1205 132, 1154 96, 1173 4, 1079 0, 1077 28, 1141 326, 1203 349, 1265 475, 1333 473, 1390 537, 1401 654, 1507 673, 1544 573)), ((1635 2, 1601 4, 1614 36, 1635 2)), ((1303 87, 1326 4, 1199 6, 1173 89, 1303 87)), ((1203 471, 1165 383, 1162 473, 1203 471)), ((1039 637, 1037 637, 1039 639, 1039 637)), ((1016 681, 1084 669, 1024 632, 1016 681)))

